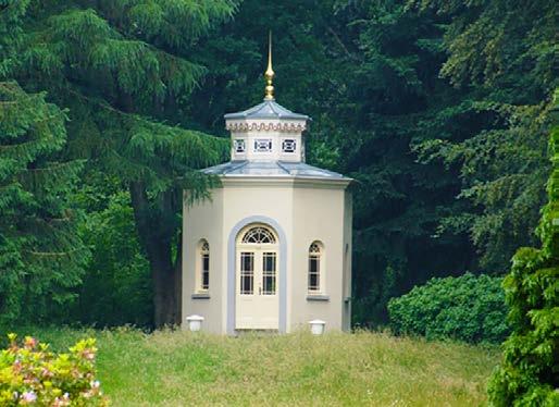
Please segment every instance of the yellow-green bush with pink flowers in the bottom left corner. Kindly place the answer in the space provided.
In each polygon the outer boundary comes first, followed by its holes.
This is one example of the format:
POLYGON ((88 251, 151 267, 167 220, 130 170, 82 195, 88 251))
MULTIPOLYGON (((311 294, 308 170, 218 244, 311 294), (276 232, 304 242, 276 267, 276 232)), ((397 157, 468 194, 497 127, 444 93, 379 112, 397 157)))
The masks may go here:
POLYGON ((0 406, 108 406, 96 380, 95 340, 79 341, 67 354, 54 354, 33 337, 0 350, 0 406))

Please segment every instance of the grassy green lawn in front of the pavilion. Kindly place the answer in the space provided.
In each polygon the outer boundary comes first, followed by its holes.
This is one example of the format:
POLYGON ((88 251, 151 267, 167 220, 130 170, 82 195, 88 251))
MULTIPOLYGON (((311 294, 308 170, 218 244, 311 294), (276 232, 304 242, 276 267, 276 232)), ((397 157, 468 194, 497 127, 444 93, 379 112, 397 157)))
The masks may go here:
POLYGON ((98 340, 114 406, 484 404, 496 348, 358 332, 314 337, 134 330, 17 330, 63 349, 98 340))

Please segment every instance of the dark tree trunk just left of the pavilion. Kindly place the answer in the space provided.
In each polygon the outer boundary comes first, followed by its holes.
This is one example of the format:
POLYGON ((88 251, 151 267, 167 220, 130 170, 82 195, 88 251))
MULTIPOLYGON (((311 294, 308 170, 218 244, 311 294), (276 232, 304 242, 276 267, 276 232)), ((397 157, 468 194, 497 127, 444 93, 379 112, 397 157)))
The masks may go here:
POLYGON ((161 207, 154 210, 149 206, 142 183, 131 183, 129 192, 136 227, 153 281, 153 323, 156 328, 177 324, 181 322, 181 291, 179 285, 177 286, 181 280, 181 262, 177 261, 176 266, 173 263, 171 250, 174 224, 169 219, 175 215, 169 196, 171 193, 163 194, 161 207))

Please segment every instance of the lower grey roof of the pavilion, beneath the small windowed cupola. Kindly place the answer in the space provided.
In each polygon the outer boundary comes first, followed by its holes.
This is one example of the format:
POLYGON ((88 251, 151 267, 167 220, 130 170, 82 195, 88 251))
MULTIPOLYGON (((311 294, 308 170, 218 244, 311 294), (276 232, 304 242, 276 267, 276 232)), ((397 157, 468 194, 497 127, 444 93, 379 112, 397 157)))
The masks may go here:
POLYGON ((232 177, 244 176, 280 176, 280 177, 301 177, 315 180, 339 180, 350 181, 337 172, 319 169, 305 162, 289 161, 260 161, 260 160, 243 160, 229 161, 223 164, 214 165, 202 170, 206 174, 223 175, 232 177))

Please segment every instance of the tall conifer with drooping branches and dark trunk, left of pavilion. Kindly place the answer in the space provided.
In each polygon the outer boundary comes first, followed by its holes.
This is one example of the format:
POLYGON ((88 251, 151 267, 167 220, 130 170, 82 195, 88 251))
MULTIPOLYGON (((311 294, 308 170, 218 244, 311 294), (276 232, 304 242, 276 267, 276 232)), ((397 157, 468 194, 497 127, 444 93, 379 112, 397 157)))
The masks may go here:
POLYGON ((206 195, 194 170, 228 145, 170 119, 206 67, 190 62, 198 38, 235 10, 228 0, 11 1, 26 11, 7 75, 48 90, 69 109, 66 153, 128 188, 154 287, 154 323, 179 321, 183 189, 206 195))

